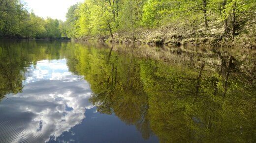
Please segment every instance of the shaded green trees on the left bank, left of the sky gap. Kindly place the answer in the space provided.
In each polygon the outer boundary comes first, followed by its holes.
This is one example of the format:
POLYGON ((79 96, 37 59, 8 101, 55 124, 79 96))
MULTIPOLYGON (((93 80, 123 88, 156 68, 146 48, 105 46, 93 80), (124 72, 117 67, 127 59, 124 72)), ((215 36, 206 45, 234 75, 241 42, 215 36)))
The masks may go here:
POLYGON ((29 12, 22 0, 0 0, 0 37, 62 39, 64 23, 29 12))

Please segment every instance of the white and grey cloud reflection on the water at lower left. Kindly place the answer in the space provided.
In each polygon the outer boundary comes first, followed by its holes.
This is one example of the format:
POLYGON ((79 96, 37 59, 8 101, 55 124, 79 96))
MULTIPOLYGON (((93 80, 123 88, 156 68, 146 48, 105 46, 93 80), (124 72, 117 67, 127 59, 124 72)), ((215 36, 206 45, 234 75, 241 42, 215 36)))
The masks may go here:
POLYGON ((40 61, 31 71, 23 93, 0 104, 0 142, 46 142, 81 123, 93 107, 89 84, 68 72, 65 60, 40 61))

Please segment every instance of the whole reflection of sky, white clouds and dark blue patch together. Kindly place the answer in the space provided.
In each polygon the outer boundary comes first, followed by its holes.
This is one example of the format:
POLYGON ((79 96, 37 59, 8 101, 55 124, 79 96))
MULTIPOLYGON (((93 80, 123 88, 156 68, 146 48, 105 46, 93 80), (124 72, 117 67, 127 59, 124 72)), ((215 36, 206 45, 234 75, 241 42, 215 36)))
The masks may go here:
POLYGON ((96 112, 89 83, 68 71, 66 60, 28 69, 22 93, 0 103, 0 143, 143 143, 135 126, 96 112))

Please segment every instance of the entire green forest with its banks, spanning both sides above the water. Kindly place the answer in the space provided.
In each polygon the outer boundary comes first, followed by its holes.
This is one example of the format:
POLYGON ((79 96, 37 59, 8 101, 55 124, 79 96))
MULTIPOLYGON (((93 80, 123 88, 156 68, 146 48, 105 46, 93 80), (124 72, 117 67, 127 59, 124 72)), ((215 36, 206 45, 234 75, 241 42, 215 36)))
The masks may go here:
POLYGON ((85 0, 68 9, 65 22, 1 0, 0 13, 2 37, 256 46, 255 0, 85 0))

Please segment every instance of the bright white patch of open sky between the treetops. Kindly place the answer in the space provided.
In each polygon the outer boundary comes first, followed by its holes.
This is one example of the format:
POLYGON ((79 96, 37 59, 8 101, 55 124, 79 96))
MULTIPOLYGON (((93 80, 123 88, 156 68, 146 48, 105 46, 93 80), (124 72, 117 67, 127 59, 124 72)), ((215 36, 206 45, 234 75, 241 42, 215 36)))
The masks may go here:
POLYGON ((65 14, 68 8, 84 0, 23 0, 29 10, 43 18, 53 18, 65 21, 65 14))

